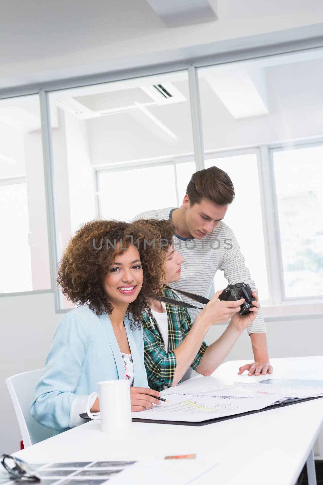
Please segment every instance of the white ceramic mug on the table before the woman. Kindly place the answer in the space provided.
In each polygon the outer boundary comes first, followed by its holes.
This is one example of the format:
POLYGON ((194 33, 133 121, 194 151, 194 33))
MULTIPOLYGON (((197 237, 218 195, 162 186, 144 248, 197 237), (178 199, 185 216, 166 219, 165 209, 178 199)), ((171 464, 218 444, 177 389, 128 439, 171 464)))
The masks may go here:
POLYGON ((131 402, 129 381, 125 379, 98 382, 99 393, 92 392, 87 404, 87 413, 92 420, 101 419, 104 433, 129 431, 131 428, 131 402), (99 396, 100 416, 92 414, 90 402, 99 396))

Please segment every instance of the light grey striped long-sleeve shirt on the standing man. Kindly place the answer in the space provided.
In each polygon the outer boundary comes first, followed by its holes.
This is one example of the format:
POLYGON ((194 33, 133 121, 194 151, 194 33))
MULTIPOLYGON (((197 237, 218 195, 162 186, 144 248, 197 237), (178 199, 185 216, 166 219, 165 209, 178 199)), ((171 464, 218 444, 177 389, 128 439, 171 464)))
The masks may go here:
MULTIPOLYGON (((174 209, 176 207, 148 210, 136 215, 133 221, 139 219, 171 219, 171 212, 174 209)), ((220 221, 215 229, 202 239, 185 239, 176 234, 173 238, 173 244, 176 251, 184 258, 180 280, 169 284, 174 290, 189 291, 207 298, 215 273, 217 270, 221 270, 229 284, 245 282, 258 292, 246 267, 240 246, 230 227, 223 221, 220 221)), ((192 300, 185 296, 183 296, 183 300, 194 304, 192 300)), ((189 309, 189 313, 192 322, 194 322, 199 310, 189 309)), ((248 334, 266 333, 261 308, 247 330, 248 334)))

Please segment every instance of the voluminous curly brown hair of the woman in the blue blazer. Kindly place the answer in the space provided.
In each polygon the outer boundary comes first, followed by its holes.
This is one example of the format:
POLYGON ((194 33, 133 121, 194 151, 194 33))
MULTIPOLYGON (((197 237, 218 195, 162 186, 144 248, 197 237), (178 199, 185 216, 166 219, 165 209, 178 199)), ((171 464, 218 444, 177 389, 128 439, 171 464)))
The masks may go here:
POLYGON ((113 307, 103 291, 102 278, 115 258, 123 253, 120 247, 135 244, 144 277, 136 300, 128 306, 127 315, 132 321, 131 328, 140 327, 141 312, 149 308, 150 297, 161 296, 165 280, 165 253, 159 239, 160 232, 147 221, 128 224, 94 220, 84 224, 68 243, 59 263, 57 282, 63 295, 77 306, 88 304, 96 315, 111 314, 113 307), (153 240, 154 244, 147 244, 153 240))

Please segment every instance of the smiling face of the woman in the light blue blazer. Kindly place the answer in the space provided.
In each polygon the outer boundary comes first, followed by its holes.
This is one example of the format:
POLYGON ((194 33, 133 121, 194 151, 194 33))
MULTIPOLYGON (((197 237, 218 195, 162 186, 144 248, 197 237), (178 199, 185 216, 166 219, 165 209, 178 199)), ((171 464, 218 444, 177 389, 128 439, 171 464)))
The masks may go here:
POLYGON ((137 247, 129 246, 117 256, 103 276, 102 286, 108 301, 127 306, 136 300, 142 287, 143 272, 137 247))

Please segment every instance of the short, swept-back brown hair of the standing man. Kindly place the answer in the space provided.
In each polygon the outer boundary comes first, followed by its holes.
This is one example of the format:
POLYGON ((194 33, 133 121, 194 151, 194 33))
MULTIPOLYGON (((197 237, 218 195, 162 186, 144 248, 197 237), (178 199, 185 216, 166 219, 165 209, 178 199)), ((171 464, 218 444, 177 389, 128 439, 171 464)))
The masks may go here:
POLYGON ((228 174, 218 167, 210 167, 192 175, 186 194, 191 206, 200 204, 203 197, 224 206, 234 199, 234 187, 228 174))

